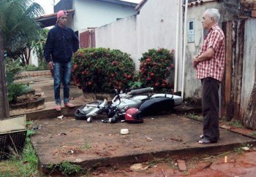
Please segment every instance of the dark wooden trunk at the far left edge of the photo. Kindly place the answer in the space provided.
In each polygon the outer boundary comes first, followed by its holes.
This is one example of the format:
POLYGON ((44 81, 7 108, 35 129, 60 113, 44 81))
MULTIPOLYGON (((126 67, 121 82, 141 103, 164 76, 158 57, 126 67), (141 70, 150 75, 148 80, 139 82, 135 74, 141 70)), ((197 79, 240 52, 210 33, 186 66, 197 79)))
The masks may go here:
POLYGON ((5 119, 7 117, 10 117, 10 109, 7 97, 7 82, 4 66, 4 39, 0 21, 0 119, 5 119))

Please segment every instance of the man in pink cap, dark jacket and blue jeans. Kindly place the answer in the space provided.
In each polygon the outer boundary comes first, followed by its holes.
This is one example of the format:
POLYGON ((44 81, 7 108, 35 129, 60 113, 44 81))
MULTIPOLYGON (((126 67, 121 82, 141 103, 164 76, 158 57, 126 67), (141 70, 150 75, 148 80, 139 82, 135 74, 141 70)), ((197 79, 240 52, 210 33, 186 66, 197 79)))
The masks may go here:
POLYGON ((61 10, 57 13, 56 26, 50 29, 45 44, 45 60, 53 70, 54 79, 54 98, 56 101, 56 111, 61 111, 60 88, 61 82, 64 86, 64 106, 72 108, 74 105, 69 103, 69 82, 71 77, 73 52, 79 47, 78 37, 71 28, 66 27, 67 12, 61 10))

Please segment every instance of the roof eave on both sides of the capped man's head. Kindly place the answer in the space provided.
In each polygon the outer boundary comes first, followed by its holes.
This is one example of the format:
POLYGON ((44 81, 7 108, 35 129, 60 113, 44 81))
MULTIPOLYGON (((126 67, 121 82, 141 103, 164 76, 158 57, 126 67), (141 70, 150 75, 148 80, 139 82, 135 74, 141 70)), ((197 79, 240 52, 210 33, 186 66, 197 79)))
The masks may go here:
MULTIPOLYGON (((74 14, 74 9, 67 10, 68 14, 74 14)), ((57 21, 57 13, 48 14, 48 15, 42 15, 41 17, 37 18, 37 22, 40 23, 41 28, 45 28, 51 25, 55 25, 57 21)))

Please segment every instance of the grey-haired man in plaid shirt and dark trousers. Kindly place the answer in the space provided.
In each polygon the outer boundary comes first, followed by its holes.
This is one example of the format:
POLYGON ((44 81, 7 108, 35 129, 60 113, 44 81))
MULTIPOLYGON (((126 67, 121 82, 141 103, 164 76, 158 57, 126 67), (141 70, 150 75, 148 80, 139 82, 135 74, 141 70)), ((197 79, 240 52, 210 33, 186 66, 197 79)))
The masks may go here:
POLYGON ((199 55, 193 58, 197 79, 201 80, 203 135, 200 144, 217 143, 219 140, 219 84, 225 68, 225 36, 219 28, 218 9, 206 9, 203 28, 208 30, 199 55))

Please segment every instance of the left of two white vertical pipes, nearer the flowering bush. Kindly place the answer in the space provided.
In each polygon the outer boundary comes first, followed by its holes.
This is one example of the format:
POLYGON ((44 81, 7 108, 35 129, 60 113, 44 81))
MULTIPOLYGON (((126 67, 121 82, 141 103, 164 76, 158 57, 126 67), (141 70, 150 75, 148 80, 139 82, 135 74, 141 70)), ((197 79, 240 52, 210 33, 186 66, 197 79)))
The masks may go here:
POLYGON ((176 47, 175 47, 175 74, 174 74, 174 92, 178 91, 178 39, 179 39, 179 15, 180 15, 180 1, 177 4, 177 21, 176 21, 176 47))

